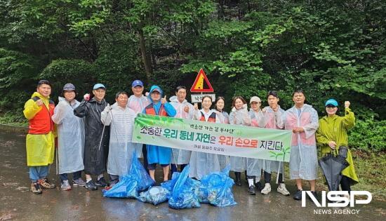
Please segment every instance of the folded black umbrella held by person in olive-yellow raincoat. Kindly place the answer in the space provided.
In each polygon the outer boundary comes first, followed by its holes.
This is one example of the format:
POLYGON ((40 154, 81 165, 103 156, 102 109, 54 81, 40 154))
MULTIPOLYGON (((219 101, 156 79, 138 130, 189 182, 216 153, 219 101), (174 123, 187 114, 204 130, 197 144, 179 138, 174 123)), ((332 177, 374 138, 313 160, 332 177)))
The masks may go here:
POLYGON ((328 189, 330 191, 338 190, 340 180, 342 179, 342 170, 350 164, 346 161, 347 147, 339 147, 339 154, 335 156, 330 153, 319 159, 319 166, 326 178, 328 189))

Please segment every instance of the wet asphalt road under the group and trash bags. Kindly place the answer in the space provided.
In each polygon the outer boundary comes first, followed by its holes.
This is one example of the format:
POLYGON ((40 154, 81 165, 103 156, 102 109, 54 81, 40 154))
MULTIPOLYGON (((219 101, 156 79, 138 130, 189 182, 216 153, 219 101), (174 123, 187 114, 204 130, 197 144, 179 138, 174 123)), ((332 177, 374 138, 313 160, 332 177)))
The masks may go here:
MULTIPOLYGON (((157 175, 161 180, 161 174, 157 175)), ((48 178, 59 185, 55 164, 48 178)), ((287 180, 286 184, 293 194, 294 182, 287 180)), ((359 214, 354 215, 314 214, 318 208, 310 201, 302 208, 301 202, 292 196, 278 194, 277 185, 272 185, 267 196, 251 196, 246 191, 246 182, 242 187, 233 187, 237 206, 225 208, 201 203, 201 208, 174 210, 168 203, 153 206, 135 199, 107 199, 100 189, 92 192, 84 187, 73 187, 71 191, 56 187, 35 195, 29 192, 25 133, 6 130, 0 130, 0 187, 0 220, 386 220, 385 201, 355 206, 359 214)), ((352 208, 329 211, 347 213, 352 208)))

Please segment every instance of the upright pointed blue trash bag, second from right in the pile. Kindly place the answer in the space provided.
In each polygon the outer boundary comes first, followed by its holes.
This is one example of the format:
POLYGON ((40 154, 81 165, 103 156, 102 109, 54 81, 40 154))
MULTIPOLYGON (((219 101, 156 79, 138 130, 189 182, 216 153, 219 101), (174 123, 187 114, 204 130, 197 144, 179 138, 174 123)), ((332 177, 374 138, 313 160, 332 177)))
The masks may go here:
POLYGON ((190 166, 185 166, 178 176, 173 187, 173 192, 168 204, 171 208, 197 208, 200 207, 198 189, 199 181, 188 178, 190 166))

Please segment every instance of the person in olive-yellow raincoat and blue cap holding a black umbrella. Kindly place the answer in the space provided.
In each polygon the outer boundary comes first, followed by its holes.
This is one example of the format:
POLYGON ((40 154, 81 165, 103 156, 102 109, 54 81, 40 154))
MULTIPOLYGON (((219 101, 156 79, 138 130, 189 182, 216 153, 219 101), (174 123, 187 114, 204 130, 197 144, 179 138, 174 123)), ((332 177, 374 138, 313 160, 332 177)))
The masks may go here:
MULTIPOLYGON (((338 154, 339 147, 348 147, 347 130, 350 130, 355 125, 355 116, 350 109, 350 102, 345 101, 345 116, 338 116, 338 102, 334 99, 326 101, 327 116, 319 120, 319 128, 317 130, 317 142, 321 148, 322 156, 330 152, 338 154)), ((342 170, 342 180, 340 180, 340 187, 342 191, 347 191, 350 194, 351 185, 358 182, 357 174, 354 169, 354 161, 352 161, 352 154, 348 149, 346 161, 350 163, 342 170)))

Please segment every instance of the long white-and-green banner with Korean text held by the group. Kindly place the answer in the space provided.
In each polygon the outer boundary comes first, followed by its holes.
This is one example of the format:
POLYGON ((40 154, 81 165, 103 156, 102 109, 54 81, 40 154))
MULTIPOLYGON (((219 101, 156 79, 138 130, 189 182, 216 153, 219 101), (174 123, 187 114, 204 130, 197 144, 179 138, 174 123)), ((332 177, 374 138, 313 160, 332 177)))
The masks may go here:
POLYGON ((133 142, 197 152, 286 161, 290 159, 291 130, 208 123, 138 114, 133 142))

